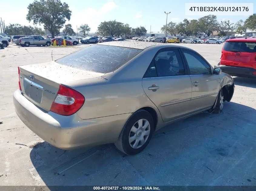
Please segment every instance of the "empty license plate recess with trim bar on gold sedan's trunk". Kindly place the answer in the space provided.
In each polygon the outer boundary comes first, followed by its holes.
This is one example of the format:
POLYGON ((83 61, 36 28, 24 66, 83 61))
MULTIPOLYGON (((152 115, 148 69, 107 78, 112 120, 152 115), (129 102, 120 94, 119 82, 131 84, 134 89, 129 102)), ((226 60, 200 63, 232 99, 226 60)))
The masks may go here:
POLYGON ((42 102, 44 88, 27 78, 23 78, 25 94, 37 103, 42 102))

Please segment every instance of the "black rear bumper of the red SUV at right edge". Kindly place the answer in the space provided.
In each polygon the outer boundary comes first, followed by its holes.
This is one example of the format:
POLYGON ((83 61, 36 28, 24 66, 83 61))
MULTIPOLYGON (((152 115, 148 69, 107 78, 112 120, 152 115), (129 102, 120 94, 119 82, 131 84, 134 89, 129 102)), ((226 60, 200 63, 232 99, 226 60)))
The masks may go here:
POLYGON ((216 65, 214 67, 221 68, 222 72, 225 72, 231 76, 256 78, 256 75, 253 75, 253 72, 256 72, 256 70, 253 68, 226 66, 226 65, 216 65))

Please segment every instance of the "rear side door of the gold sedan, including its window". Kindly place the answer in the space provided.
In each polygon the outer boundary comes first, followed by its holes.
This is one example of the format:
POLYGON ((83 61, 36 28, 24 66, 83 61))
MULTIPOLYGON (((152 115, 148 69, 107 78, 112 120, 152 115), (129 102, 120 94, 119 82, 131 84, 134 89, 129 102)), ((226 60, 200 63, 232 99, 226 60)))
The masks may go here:
POLYGON ((183 61, 180 49, 161 49, 142 79, 146 95, 160 111, 164 122, 187 113, 192 85, 183 61))

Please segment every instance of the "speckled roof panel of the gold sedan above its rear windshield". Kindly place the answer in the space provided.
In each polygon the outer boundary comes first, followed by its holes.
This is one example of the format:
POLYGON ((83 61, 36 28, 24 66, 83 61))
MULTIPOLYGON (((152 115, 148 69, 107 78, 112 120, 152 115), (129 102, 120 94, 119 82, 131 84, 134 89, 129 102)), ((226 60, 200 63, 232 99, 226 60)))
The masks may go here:
MULTIPOLYGON (((141 49, 144 50, 148 47, 151 46, 158 46, 159 49, 160 48, 165 48, 165 47, 177 47, 177 48, 185 48, 185 49, 190 49, 187 48, 185 46, 179 46, 179 45, 170 45, 170 43, 167 44, 161 44, 161 43, 154 43, 154 42, 137 42, 137 41, 131 41, 131 40, 127 40, 127 41, 112 41, 112 42, 105 42, 105 43, 98 43, 95 45, 109 45, 109 46, 120 46, 120 47, 125 47, 125 48, 135 48, 135 49, 141 49)), ((94 45, 91 45, 94 46, 94 45)), ((193 50, 193 49, 190 49, 193 50)), ((194 50, 193 50, 194 51, 194 50)))

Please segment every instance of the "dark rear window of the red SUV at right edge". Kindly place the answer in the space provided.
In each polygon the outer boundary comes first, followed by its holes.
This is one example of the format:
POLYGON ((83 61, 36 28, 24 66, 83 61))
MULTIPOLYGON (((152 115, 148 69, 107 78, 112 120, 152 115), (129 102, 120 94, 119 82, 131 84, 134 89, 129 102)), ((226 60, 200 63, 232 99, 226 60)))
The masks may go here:
POLYGON ((223 46, 226 51, 256 53, 256 43, 254 42, 226 42, 223 46))

